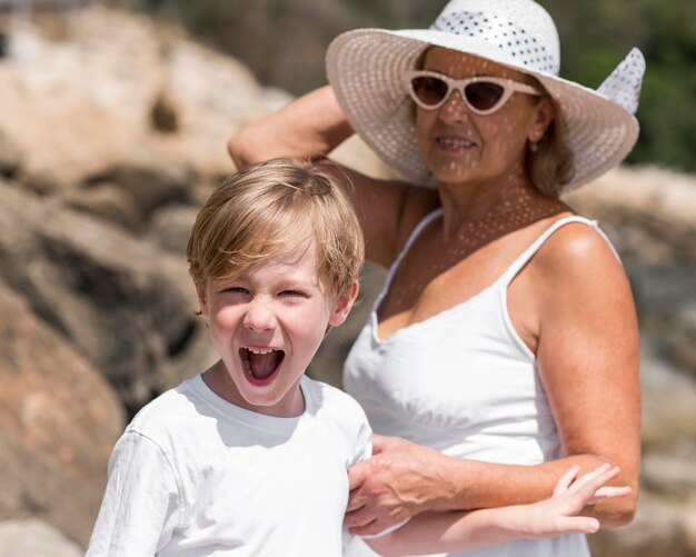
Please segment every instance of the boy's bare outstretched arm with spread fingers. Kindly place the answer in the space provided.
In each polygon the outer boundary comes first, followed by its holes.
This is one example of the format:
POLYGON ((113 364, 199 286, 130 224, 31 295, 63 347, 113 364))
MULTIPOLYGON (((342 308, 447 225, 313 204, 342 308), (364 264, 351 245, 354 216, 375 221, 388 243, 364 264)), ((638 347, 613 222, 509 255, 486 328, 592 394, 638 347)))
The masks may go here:
POLYGON ((624 497, 630 489, 603 487, 619 473, 616 467, 604 465, 573 481, 578 470, 574 467, 564 475, 549 499, 471 511, 422 513, 398 530, 365 541, 380 555, 399 556, 473 549, 518 538, 591 534, 599 521, 576 515, 586 505, 624 497))

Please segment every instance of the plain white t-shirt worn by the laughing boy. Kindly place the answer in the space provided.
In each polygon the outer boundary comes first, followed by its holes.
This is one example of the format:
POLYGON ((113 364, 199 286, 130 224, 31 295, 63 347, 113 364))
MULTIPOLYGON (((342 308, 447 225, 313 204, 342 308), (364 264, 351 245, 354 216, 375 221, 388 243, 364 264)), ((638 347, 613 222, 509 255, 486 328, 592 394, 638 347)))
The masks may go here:
POLYGON ((111 455, 87 556, 340 556, 346 470, 371 431, 345 392, 300 386, 296 418, 233 406, 201 376, 147 405, 111 455))

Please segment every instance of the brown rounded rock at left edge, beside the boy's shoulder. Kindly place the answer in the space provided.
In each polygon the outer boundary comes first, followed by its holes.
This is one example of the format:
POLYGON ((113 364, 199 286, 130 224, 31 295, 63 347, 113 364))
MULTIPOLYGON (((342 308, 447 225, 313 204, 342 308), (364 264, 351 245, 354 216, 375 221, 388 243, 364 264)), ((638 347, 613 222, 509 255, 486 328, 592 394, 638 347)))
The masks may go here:
MULTIPOLYGON (((38 517, 84 546, 123 409, 101 375, 2 282, 0 315, 11 316, 0 320, 0 519, 38 517)), ((0 554, 7 547, 0 543, 0 554)))

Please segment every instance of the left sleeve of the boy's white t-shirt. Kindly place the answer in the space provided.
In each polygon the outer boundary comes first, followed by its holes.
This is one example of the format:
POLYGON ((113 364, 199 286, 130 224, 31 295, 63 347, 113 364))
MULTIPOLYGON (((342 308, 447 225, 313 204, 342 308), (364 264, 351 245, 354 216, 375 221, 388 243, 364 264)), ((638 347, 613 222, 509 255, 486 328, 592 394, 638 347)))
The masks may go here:
POLYGON ((152 439, 127 431, 109 460, 109 479, 87 557, 152 557, 180 515, 176 474, 152 439))

